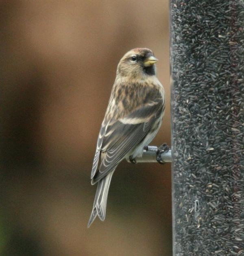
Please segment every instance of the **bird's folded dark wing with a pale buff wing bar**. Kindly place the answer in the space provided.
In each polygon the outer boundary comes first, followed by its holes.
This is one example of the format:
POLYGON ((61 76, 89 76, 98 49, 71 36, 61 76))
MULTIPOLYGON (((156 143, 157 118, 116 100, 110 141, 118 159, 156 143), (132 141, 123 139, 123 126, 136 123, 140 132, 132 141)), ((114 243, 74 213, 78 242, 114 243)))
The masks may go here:
POLYGON ((92 184, 112 171, 126 154, 145 138, 163 110, 164 102, 160 96, 147 101, 134 112, 118 120, 111 119, 106 124, 106 128, 102 125, 93 167, 98 166, 100 152, 101 162, 99 170, 96 171, 95 168, 92 170, 92 184))

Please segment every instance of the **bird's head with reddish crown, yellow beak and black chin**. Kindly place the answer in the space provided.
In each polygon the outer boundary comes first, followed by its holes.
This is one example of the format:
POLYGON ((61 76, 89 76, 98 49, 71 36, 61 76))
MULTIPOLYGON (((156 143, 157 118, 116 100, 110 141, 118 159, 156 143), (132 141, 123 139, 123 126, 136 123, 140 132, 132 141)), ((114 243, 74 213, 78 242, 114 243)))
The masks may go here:
POLYGON ((148 48, 135 48, 126 53, 120 60, 117 76, 133 80, 144 80, 156 74, 155 63, 158 60, 148 48))

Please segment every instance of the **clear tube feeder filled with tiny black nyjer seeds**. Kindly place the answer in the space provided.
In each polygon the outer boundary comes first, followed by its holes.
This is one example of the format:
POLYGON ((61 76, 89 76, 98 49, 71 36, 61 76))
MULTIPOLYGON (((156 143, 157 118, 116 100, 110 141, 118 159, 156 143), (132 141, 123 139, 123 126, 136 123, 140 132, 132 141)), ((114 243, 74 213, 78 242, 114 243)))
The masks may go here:
POLYGON ((174 255, 244 255, 244 2, 170 12, 174 255))

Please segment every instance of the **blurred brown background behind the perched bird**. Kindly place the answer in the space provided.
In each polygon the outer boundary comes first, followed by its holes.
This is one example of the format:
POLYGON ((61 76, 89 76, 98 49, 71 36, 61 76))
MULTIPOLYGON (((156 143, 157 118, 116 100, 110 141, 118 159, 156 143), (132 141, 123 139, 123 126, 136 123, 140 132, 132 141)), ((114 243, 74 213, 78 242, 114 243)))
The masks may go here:
POLYGON ((151 143, 170 144, 168 1, 0 1, 0 255, 171 255, 170 164, 122 162, 105 222, 87 229, 90 171, 118 61, 159 59, 151 143))

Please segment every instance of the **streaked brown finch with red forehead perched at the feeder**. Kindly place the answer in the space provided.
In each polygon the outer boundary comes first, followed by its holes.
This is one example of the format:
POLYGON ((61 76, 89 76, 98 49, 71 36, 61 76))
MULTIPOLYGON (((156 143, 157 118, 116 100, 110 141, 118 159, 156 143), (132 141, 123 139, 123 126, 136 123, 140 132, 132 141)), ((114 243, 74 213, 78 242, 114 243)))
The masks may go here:
POLYGON ((157 134, 165 111, 165 90, 156 76, 158 59, 148 48, 134 48, 120 59, 91 170, 97 184, 91 216, 105 220, 112 175, 125 158, 135 162, 157 134))

